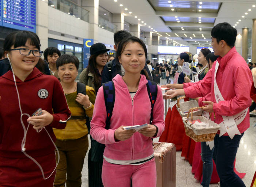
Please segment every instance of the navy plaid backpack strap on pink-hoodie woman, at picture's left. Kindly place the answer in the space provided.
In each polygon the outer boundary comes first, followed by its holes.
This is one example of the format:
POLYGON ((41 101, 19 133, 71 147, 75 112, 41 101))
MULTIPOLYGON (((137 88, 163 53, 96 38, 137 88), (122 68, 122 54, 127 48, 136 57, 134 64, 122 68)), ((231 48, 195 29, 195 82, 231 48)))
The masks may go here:
POLYGON ((114 108, 114 102, 115 102, 115 98, 116 98, 115 87, 114 87, 114 82, 113 81, 103 83, 102 86, 103 86, 105 106, 106 106, 106 111, 107 111, 107 119, 106 119, 105 129, 109 129, 109 127, 110 127, 110 118, 112 116, 112 112, 113 112, 113 108, 114 108))

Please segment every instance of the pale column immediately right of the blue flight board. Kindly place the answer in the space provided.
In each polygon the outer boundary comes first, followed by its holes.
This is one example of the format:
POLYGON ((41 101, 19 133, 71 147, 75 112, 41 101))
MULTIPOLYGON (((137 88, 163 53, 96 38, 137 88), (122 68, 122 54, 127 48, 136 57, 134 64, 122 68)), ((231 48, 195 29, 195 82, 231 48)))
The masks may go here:
POLYGON ((37 0, 37 26, 36 34, 40 38, 40 49, 44 51, 48 47, 48 2, 37 0))

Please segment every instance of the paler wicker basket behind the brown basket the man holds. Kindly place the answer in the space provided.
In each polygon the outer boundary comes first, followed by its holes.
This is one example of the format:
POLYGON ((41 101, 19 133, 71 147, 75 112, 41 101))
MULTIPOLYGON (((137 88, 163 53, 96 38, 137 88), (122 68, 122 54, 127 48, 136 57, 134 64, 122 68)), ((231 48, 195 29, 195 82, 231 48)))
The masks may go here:
MULTIPOLYGON (((186 97, 184 96, 184 97, 178 98, 177 99, 177 104, 176 104, 177 110, 180 113, 182 118, 186 117, 188 115, 188 111, 189 111, 190 108, 199 107, 196 100, 190 100, 190 101, 180 103, 180 100, 184 99, 184 98, 186 98, 186 97)), ((203 111, 201 110, 201 108, 198 108, 197 111, 193 111, 194 116, 202 115, 202 113, 203 113, 203 111)))

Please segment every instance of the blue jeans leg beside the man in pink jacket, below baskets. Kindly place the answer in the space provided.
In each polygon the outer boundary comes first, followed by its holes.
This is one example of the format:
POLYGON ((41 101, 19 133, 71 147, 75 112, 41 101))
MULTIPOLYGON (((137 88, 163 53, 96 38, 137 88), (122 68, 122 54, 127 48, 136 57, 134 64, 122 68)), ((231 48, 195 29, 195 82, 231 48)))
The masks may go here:
POLYGON ((203 180, 201 185, 203 187, 209 187, 209 184, 211 182, 211 174, 212 174, 212 155, 214 152, 214 148, 212 150, 208 145, 206 145, 206 142, 201 142, 201 150, 202 150, 202 161, 203 161, 203 180))

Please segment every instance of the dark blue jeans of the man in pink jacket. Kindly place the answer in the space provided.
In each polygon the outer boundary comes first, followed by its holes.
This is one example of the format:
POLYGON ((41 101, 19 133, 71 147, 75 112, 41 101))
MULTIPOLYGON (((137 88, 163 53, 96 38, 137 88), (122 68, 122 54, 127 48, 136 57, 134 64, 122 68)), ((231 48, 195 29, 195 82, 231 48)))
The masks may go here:
POLYGON ((234 161, 242 135, 229 136, 216 134, 214 138, 214 162, 221 180, 221 187, 245 187, 244 182, 234 172, 234 161))

